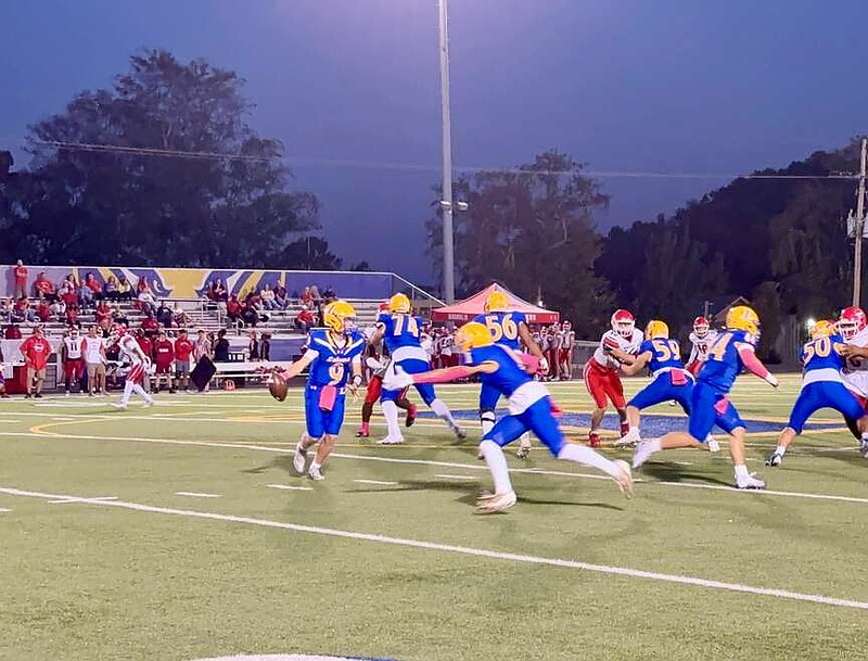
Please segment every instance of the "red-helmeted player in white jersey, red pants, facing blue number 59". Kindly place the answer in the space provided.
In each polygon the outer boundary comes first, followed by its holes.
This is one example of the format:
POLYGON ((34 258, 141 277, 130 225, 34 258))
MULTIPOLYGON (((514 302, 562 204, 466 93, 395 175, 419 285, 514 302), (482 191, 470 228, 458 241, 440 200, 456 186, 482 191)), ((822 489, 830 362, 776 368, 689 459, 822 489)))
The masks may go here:
POLYGON ((624 398, 624 385, 621 383, 618 367, 621 363, 612 356, 613 348, 625 354, 635 355, 642 343, 642 333, 636 329, 636 319, 626 309, 616 309, 612 315, 612 330, 605 331, 600 345, 585 364, 585 386, 593 399, 595 409, 590 416, 588 444, 600 447, 600 423, 605 415, 607 402, 611 401, 621 418, 621 435, 629 432, 627 422, 627 402, 624 398))

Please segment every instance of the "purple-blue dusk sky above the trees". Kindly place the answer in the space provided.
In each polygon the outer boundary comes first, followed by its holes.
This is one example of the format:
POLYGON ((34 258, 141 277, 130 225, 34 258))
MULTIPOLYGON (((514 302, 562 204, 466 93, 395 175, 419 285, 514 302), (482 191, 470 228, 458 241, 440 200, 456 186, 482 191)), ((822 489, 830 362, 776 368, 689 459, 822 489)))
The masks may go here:
MULTIPOLYGON (((131 53, 237 71, 323 234, 430 282, 422 224, 439 178, 436 0, 7 0, 0 149, 131 53)), ((450 0, 455 163, 549 148, 599 176, 599 227, 672 212, 868 130, 865 0, 450 0), (617 177, 605 173, 702 177, 617 177)), ((281 265, 273 265, 280 267, 281 265)))

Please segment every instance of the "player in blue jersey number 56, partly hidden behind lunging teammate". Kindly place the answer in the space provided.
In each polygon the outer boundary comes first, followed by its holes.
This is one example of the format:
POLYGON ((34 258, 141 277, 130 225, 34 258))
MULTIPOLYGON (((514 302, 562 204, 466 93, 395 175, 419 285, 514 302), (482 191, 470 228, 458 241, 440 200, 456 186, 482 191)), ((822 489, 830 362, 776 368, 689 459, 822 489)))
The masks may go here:
MULTIPOLYGON (((522 345, 524 345, 531 354, 539 359, 540 372, 545 374, 549 371, 546 357, 537 343, 534 342, 527 328, 527 317, 524 316, 524 313, 510 310, 509 296, 503 292, 493 291, 485 300, 484 310, 484 314, 477 315, 473 320, 488 329, 495 344, 515 353, 521 353, 522 345)), ((480 390, 480 424, 482 425, 483 436, 492 431, 495 425, 495 420, 497 419, 495 408, 497 408, 498 399, 500 399, 498 390, 483 382, 480 390)), ((524 434, 521 437, 519 452, 515 453, 515 456, 524 459, 529 452, 531 435, 524 434)))

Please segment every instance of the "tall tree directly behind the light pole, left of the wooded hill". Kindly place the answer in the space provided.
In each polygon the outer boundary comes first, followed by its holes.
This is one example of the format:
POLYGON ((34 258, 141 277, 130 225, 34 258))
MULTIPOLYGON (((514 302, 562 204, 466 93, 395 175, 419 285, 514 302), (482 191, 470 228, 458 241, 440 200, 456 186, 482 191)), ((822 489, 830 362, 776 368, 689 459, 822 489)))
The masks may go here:
MULTIPOLYGON (((571 156, 549 151, 516 170, 456 181, 456 198, 469 203, 467 212, 455 215, 459 288, 471 292, 498 280, 529 301, 541 296, 579 333, 597 332, 610 300, 593 271, 601 247, 593 213, 609 199, 583 169, 571 156)), ((438 270, 438 205, 426 228, 429 256, 438 270)))

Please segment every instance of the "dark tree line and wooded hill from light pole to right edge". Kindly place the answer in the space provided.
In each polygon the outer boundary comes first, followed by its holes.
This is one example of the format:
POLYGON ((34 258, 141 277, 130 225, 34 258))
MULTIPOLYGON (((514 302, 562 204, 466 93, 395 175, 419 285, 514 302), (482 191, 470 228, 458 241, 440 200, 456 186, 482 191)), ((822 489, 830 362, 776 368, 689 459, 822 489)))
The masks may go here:
MULTIPOLYGON (((456 215, 457 282, 499 280, 573 320, 579 336, 602 330, 615 307, 665 319, 686 334, 705 301, 749 300, 763 318, 765 351, 782 319, 822 318, 847 305, 853 278, 845 219, 859 140, 782 169, 738 178, 671 216, 596 230, 609 199, 573 157, 549 151, 514 170, 455 182, 469 208, 456 215), (827 178, 829 177, 829 178, 827 178)), ((439 189, 435 188, 438 192, 439 189)), ((437 205, 427 220, 432 266, 442 258, 437 205)))

